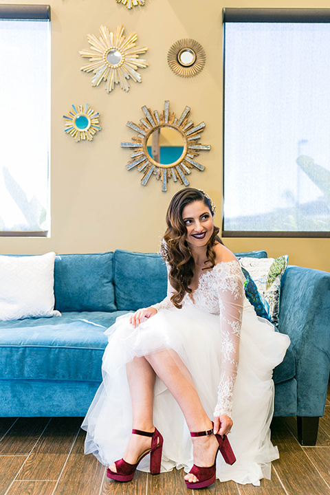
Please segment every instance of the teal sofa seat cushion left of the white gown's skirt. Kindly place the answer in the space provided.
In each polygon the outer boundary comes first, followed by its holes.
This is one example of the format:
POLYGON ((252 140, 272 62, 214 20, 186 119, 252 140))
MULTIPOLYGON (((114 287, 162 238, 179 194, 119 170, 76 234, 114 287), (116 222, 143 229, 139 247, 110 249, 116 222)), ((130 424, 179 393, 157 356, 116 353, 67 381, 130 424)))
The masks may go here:
POLYGON ((101 382, 104 331, 125 312, 0 322, 0 380, 101 382))

